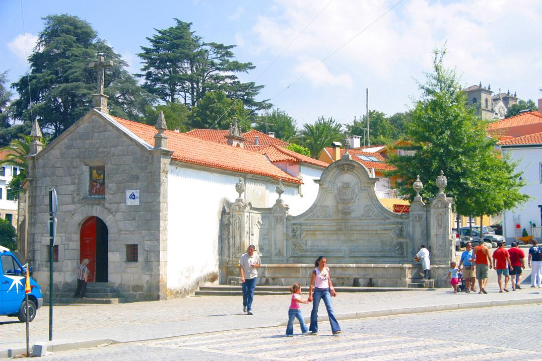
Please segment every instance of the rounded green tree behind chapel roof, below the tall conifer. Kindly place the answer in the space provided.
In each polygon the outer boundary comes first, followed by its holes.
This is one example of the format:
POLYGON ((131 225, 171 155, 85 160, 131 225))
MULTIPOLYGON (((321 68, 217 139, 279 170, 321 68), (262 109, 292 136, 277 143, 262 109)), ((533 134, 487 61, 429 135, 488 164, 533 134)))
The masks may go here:
POLYGON ((193 108, 190 125, 192 128, 228 129, 234 117, 243 132, 251 129, 249 111, 244 108, 241 100, 229 99, 221 91, 209 92, 193 108))

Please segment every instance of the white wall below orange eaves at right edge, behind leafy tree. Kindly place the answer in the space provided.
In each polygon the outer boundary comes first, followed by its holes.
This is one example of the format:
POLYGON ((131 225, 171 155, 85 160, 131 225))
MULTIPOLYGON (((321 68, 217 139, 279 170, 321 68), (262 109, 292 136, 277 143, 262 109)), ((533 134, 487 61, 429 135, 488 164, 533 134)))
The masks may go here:
POLYGON ((515 235, 514 217, 520 218, 521 229, 530 232, 529 221, 537 225, 537 237, 540 237, 540 208, 542 204, 542 183, 540 183, 540 163, 542 163, 542 145, 530 149, 503 149, 503 153, 509 153, 512 159, 519 160, 518 170, 525 170, 521 176, 526 182, 521 192, 530 195, 533 199, 522 207, 513 211, 507 211, 503 215, 504 236, 512 240, 515 235))

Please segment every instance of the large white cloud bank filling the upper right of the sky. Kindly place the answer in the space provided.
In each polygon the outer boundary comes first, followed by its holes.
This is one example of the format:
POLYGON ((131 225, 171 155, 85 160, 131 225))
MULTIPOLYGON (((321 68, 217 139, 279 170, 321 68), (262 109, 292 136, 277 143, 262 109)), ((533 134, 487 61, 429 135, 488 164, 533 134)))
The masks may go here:
MULTIPOLYGON (((251 49, 254 56, 274 59, 327 3, 328 0, 276 0, 272 11, 255 18, 251 34, 244 36, 245 48, 251 49)), ((444 44, 448 48, 445 65, 457 69, 462 85, 482 81, 485 86, 491 83, 493 90, 517 90, 518 96, 525 99, 536 96, 542 87, 542 83, 533 83, 542 74, 536 55, 542 38, 537 20, 542 3, 411 0, 363 30, 394 4, 396 0, 343 0, 329 4, 269 70, 283 69, 273 79, 276 86, 292 83, 304 70, 350 41, 327 59, 325 66, 307 75, 311 80, 309 87, 341 82, 345 87, 369 87, 373 89, 375 108, 387 113, 403 111, 404 104, 410 103, 408 96, 416 93, 412 78, 425 81, 422 72, 432 70, 432 50, 444 44)), ((302 93, 308 89, 294 94, 293 88, 289 92, 301 104, 305 101, 302 93)), ((321 92, 320 96, 330 94, 321 92)), ((350 105, 327 106, 344 112, 342 109, 350 105)))

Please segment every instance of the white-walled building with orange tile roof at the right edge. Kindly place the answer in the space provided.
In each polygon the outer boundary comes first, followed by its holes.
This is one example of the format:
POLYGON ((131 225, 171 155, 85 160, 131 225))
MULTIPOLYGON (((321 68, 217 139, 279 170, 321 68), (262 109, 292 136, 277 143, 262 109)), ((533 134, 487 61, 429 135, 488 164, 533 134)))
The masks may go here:
MULTIPOLYGON (((540 113, 523 113, 517 117, 505 119, 511 120, 506 125, 512 128, 509 131, 525 132, 529 127, 534 127, 537 124, 534 123, 535 120, 542 120, 542 117, 538 117, 536 114, 540 113), (515 130, 513 130, 514 125, 516 126, 515 130)), ((502 235, 508 241, 514 241, 516 237, 521 237, 523 229, 539 241, 542 236, 542 228, 540 228, 542 225, 542 123, 536 128, 538 128, 536 133, 512 139, 502 139, 498 143, 503 155, 508 154, 513 161, 518 162, 517 170, 523 171, 521 178, 526 183, 521 192, 532 197, 521 208, 506 211, 502 215, 502 235)))

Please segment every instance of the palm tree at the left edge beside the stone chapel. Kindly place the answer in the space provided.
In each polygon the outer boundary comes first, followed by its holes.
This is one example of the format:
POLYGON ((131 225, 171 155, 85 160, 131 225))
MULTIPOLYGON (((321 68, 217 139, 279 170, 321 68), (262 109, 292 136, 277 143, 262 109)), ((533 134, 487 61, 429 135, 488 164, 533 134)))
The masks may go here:
MULTIPOLYGON (((0 160, 0 166, 12 165, 19 169, 19 173, 11 179, 7 184, 7 194, 9 199, 17 199, 18 195, 23 191, 21 185, 28 176, 28 159, 30 153, 30 143, 32 137, 25 134, 18 134, 20 139, 13 139, 9 145, 2 147, 0 150, 5 152, 4 159, 0 160)), ((40 138, 41 143, 45 146, 49 138, 40 138)))

